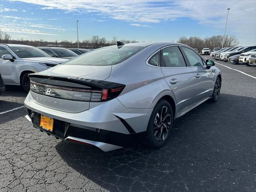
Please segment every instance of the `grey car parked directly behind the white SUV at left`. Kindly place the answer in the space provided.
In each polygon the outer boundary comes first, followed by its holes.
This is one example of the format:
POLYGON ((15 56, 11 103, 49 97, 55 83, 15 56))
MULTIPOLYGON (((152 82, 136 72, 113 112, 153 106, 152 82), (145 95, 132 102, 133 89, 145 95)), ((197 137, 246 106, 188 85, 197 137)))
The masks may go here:
POLYGON ((62 48, 62 47, 37 47, 47 54, 49 54, 52 57, 59 57, 59 58, 66 58, 66 59, 72 59, 78 54, 74 53, 73 51, 62 48))

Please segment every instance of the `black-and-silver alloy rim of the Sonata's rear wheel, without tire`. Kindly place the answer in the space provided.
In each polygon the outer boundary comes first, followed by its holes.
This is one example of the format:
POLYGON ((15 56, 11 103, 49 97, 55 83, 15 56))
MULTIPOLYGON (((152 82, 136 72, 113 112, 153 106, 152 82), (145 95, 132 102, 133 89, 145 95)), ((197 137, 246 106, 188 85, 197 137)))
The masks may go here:
POLYGON ((154 121, 154 137, 157 141, 163 141, 168 135, 171 125, 171 115, 166 106, 163 106, 156 114, 154 121))

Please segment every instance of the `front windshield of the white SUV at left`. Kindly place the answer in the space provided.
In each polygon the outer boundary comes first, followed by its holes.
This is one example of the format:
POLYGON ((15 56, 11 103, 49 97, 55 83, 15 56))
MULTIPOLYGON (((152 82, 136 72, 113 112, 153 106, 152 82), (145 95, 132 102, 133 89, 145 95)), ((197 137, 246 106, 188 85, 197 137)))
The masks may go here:
POLYGON ((30 58, 30 57, 51 57, 46 52, 36 47, 10 47, 19 58, 30 58))

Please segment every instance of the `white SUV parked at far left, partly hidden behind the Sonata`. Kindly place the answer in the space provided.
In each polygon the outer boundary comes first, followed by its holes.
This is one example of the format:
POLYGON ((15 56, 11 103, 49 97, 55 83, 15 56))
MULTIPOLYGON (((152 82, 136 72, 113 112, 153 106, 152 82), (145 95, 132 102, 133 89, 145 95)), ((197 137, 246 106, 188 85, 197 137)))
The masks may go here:
POLYGON ((44 71, 68 59, 53 58, 28 45, 0 44, 0 72, 6 85, 21 85, 28 92, 28 74, 44 71))

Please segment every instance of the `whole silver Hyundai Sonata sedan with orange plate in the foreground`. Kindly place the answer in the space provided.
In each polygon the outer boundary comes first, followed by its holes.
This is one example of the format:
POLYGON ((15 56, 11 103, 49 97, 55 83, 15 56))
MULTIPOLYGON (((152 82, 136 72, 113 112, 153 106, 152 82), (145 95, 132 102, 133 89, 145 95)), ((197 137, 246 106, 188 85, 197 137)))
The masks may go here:
POLYGON ((178 43, 109 46, 30 74, 26 118, 48 135, 115 150, 163 146, 175 118, 210 99, 221 72, 178 43))

